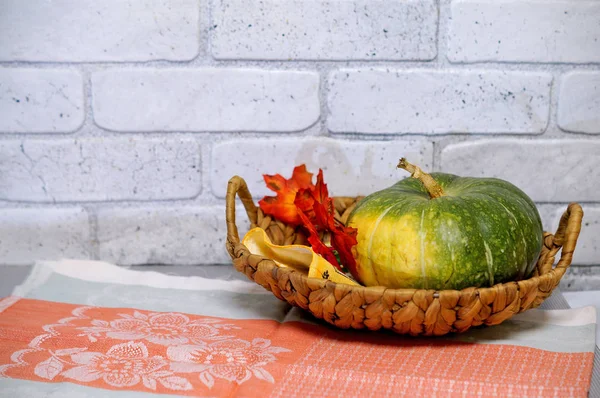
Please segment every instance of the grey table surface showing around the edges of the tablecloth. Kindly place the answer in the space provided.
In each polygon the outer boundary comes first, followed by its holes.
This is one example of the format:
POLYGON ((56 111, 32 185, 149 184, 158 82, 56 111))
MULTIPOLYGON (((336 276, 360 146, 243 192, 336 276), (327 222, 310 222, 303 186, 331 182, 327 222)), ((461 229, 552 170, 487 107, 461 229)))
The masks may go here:
MULTIPOLYGON (((156 271, 166 275, 202 276, 211 279, 245 280, 246 276, 227 265, 176 266, 176 265, 143 265, 127 267, 140 271, 156 271)), ((9 296, 15 286, 20 285, 29 275, 31 266, 2 266, 0 268, 0 297, 9 296)), ((561 293, 558 290, 544 301, 542 309, 567 309, 593 305, 600 315, 600 291, 582 291, 561 293)), ((596 332, 596 353, 594 355, 594 370, 589 396, 600 398, 600 350, 598 344, 600 333, 596 332)))

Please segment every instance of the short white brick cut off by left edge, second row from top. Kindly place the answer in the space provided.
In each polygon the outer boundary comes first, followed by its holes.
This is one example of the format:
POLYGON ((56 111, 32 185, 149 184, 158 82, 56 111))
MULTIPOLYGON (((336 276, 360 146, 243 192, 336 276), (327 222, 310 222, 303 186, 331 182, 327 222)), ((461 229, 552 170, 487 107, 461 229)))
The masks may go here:
POLYGON ((83 123, 83 109, 79 72, 0 68, 0 132, 73 132, 83 123))

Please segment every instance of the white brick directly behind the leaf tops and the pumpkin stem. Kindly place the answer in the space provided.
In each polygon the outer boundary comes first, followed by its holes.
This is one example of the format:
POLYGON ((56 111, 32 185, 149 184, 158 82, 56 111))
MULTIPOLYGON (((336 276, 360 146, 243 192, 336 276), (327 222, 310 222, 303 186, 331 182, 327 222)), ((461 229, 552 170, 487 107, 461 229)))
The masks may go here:
POLYGON ((340 141, 327 138, 240 140, 215 145, 212 153, 212 191, 225 197, 234 175, 246 180, 255 197, 274 194, 263 174, 290 178, 295 166, 306 164, 315 174, 323 169, 331 196, 366 195, 406 177, 396 169, 406 156, 426 170, 433 161, 432 144, 425 141, 340 141))

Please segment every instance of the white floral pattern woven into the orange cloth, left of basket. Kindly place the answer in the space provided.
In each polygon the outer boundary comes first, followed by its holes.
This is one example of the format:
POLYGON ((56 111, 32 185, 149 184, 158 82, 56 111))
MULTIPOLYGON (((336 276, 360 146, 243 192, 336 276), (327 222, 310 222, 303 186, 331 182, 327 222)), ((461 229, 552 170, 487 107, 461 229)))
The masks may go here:
POLYGON ((239 385, 252 378, 274 383, 266 366, 290 351, 268 339, 240 338, 241 328, 221 319, 137 310, 115 317, 106 310, 76 307, 41 326, 45 333, 12 352, 0 376, 33 369, 46 381, 152 391, 190 391, 195 378, 210 390, 219 382, 239 385))

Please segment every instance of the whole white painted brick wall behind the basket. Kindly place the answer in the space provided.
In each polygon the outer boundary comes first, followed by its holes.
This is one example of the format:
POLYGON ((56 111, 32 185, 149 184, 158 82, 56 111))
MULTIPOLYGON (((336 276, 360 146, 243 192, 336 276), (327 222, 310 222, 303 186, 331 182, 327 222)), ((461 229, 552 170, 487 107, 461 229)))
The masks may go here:
POLYGON ((407 156, 512 181, 548 230, 582 202, 575 263, 600 265, 598 21, 595 0, 6 0, 0 264, 227 264, 232 175, 260 197, 305 162, 364 194, 407 156))

